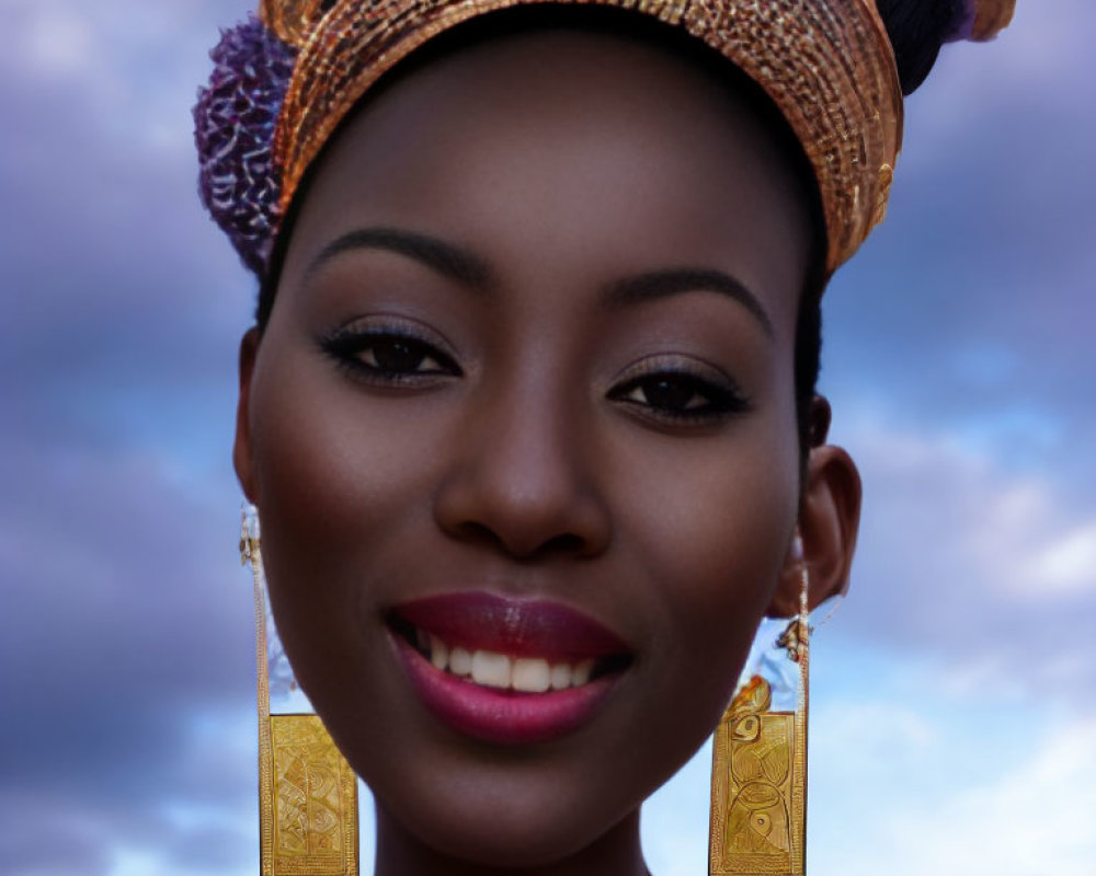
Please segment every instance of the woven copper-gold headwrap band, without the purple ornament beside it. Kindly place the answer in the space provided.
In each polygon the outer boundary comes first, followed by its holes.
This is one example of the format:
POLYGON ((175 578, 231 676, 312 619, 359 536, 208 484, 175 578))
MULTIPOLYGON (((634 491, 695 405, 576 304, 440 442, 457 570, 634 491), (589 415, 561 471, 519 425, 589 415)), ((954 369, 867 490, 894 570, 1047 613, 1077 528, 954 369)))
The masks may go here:
MULTIPOLYGON (((266 25, 299 49, 274 139, 282 209, 339 123, 385 72, 456 24, 540 2, 652 15, 703 39, 755 80, 814 169, 827 273, 882 220, 903 115, 875 0, 262 0, 266 25)), ((979 11, 979 33, 989 36, 1014 2, 983 0, 992 10, 979 11)))

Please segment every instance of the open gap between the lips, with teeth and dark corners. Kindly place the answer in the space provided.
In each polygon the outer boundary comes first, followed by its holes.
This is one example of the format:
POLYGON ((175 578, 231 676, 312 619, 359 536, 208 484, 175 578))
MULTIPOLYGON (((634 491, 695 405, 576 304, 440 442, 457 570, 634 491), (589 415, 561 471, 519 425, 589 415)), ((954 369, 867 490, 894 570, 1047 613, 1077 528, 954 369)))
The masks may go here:
POLYGON ((481 688, 499 693, 549 693, 582 688, 601 678, 618 675, 631 662, 627 654, 559 659, 529 653, 526 645, 520 654, 476 648, 453 636, 427 632, 399 615, 389 619, 389 626, 435 669, 481 688))

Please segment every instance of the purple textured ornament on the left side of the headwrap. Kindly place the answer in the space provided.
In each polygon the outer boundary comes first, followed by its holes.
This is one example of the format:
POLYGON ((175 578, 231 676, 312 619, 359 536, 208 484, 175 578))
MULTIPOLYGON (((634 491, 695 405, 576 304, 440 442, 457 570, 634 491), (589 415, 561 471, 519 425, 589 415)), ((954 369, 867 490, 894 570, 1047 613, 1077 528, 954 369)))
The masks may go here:
POLYGON ((221 31, 209 57, 214 71, 194 107, 198 192, 243 264, 262 279, 279 219, 271 147, 296 53, 252 14, 221 31))

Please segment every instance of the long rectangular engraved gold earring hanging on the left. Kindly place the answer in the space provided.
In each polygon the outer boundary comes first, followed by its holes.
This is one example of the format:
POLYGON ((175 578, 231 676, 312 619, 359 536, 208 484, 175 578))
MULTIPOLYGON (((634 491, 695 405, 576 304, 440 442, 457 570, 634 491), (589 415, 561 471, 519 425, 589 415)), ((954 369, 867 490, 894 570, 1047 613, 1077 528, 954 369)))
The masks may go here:
MULTIPOLYGON (((284 660, 272 625, 259 516, 241 510, 240 561, 251 564, 259 668, 259 849, 262 876, 357 876, 357 777, 295 684, 283 684, 290 708, 271 711, 271 662, 284 660), (290 691, 290 689, 293 689, 290 691), (296 700, 295 703, 292 701, 296 700)), ((288 665, 286 664, 286 667, 288 665)), ((286 673, 288 669, 286 669, 286 673)))

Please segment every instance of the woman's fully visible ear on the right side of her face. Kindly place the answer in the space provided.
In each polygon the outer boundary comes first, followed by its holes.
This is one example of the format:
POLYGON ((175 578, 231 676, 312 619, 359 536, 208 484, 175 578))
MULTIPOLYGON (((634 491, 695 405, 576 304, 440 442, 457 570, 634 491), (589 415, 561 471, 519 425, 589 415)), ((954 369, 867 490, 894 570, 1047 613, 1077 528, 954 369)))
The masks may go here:
MULTIPOLYGON (((829 404, 820 401, 829 425, 829 404)), ((825 439, 824 427, 820 439, 825 439)), ((860 525, 860 474, 848 453, 832 445, 811 448, 796 528, 802 538, 803 558, 796 556, 792 539, 769 616, 790 618, 799 612, 802 563, 807 564, 812 611, 830 597, 846 591, 860 525)))

